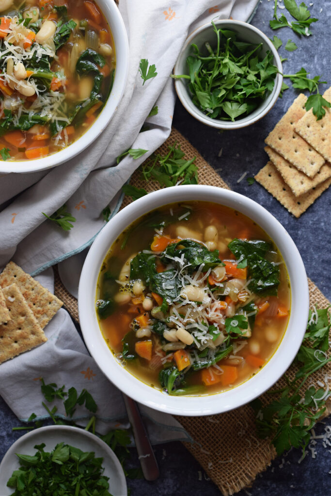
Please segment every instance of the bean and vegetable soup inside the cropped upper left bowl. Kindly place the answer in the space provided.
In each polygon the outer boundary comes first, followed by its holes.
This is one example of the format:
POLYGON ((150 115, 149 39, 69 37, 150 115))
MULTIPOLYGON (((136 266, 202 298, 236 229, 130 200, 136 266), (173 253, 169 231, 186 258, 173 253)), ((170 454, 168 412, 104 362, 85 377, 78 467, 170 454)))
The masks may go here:
POLYGON ((60 151, 93 124, 111 91, 109 25, 86 0, 14 0, 0 18, 0 159, 60 151))

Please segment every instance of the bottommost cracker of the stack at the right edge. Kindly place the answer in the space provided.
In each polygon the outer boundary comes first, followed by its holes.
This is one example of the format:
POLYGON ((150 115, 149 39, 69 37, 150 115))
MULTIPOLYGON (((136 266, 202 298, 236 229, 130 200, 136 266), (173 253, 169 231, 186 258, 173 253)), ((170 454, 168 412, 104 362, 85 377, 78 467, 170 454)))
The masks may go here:
POLYGON ((272 162, 268 162, 255 179, 295 217, 300 217, 331 184, 331 179, 327 179, 308 193, 295 196, 272 162))

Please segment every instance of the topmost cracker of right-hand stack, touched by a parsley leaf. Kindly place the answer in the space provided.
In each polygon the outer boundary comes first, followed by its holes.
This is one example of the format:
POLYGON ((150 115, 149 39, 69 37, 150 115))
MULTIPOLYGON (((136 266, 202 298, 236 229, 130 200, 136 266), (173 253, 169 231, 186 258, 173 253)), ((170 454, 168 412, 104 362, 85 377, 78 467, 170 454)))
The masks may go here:
MULTIPOLYGON (((331 87, 323 97, 331 102, 331 87)), ((331 109, 324 107, 325 116, 319 121, 310 109, 295 125, 294 129, 310 143, 322 157, 331 162, 331 109)))

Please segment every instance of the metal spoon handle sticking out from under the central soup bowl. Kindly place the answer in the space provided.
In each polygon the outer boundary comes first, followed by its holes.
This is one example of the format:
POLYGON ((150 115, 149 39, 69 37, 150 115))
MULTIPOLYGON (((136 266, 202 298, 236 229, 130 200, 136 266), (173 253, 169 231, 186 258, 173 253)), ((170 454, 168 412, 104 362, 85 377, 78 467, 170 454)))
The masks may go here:
POLYGON ((142 473, 146 481, 155 481, 160 475, 159 467, 154 455, 153 448, 149 442, 148 435, 141 420, 138 406, 134 400, 123 394, 128 417, 132 426, 135 445, 138 451, 142 473))

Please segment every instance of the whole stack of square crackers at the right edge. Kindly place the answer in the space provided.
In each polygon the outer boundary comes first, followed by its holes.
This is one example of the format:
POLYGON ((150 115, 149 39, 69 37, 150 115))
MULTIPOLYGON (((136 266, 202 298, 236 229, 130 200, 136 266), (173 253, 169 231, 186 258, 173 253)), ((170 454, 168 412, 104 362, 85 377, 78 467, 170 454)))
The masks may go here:
MULTIPOLYGON (((331 101, 331 88, 323 97, 331 101)), ((306 101, 299 95, 265 138, 270 161, 255 176, 295 217, 331 184, 331 109, 317 121, 306 101)))

